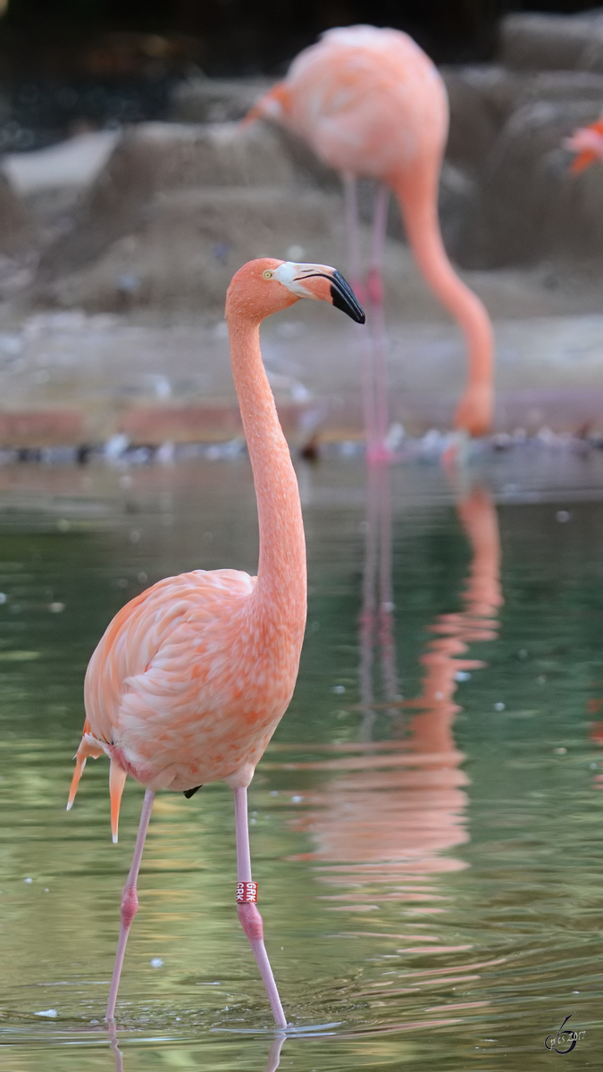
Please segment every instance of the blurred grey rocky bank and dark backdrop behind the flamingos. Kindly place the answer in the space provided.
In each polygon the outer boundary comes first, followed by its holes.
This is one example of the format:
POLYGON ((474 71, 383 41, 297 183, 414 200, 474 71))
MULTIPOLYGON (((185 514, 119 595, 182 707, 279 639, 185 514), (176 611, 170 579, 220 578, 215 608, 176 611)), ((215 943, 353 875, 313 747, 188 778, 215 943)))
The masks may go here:
MULTIPOLYGON (((232 438, 238 418, 221 327, 232 274, 262 255, 347 264, 339 177, 282 130, 238 121, 318 34, 362 20, 411 33, 446 84, 440 220, 450 256, 497 323, 497 430, 602 427, 599 326, 588 317, 601 302, 603 181, 600 166, 572 175, 563 148, 603 107, 602 9, 527 11, 503 0, 1 6, 0 446, 232 438), (567 345, 576 332, 577 361, 567 345)), ((373 194, 361 183, 367 228, 373 194)), ((465 357, 403 238, 392 207, 392 418, 423 434, 450 427, 465 357)), ((309 346, 305 317, 297 309, 293 326, 267 329, 288 434, 358 437, 357 369, 324 317, 309 346)))

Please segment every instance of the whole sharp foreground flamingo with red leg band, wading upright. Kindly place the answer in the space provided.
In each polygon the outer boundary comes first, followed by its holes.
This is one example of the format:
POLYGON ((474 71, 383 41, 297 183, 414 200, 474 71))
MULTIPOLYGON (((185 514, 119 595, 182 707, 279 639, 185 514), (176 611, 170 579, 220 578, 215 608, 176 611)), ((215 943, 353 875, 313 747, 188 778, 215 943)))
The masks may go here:
POLYGON ((299 492, 260 352, 260 324, 299 298, 365 316, 345 280, 325 265, 262 258, 244 265, 226 294, 233 376, 253 468, 260 523, 258 577, 236 569, 167 577, 108 625, 88 665, 86 721, 71 808, 86 759, 111 759, 113 839, 128 774, 146 787, 106 1018, 115 1016, 136 879, 159 789, 192 794, 208 781, 234 790, 237 912, 278 1027, 286 1019, 263 939, 251 879, 247 787, 284 714, 306 624, 306 552, 299 492))

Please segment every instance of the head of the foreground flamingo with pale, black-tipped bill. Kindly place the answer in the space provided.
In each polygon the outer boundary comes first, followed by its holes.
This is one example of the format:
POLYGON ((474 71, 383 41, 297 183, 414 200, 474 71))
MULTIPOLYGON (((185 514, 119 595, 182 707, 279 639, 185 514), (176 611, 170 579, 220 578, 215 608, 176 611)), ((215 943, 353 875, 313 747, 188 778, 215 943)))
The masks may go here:
POLYGON ((365 323, 365 314, 352 287, 336 268, 274 257, 249 260, 239 268, 226 293, 226 319, 234 314, 260 323, 273 313, 289 309, 300 298, 328 301, 356 324, 365 323))

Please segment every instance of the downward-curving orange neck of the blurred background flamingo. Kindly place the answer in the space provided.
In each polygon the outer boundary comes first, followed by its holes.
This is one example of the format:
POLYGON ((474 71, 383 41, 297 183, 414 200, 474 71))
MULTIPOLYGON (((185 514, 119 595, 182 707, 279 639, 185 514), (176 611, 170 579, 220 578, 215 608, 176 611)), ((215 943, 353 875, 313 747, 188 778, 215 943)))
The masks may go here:
POLYGON ((491 383, 494 334, 490 318, 477 295, 458 278, 452 267, 438 219, 437 175, 405 176, 392 181, 411 249, 423 276, 437 297, 452 313, 465 334, 469 356, 469 382, 491 383))

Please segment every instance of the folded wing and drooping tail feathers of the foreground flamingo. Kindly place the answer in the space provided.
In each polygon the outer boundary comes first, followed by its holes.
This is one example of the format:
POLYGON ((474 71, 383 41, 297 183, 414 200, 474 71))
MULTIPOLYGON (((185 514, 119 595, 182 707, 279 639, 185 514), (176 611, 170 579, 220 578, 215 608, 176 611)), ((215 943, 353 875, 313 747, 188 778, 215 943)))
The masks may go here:
MULTIPOLYGON (((200 736, 211 753, 216 724, 223 736, 233 706, 236 717, 240 688, 232 668, 254 585, 255 578, 234 569, 166 578, 122 607, 101 638, 86 674, 87 717, 69 806, 86 757, 107 753, 114 837, 124 780, 114 764, 144 784, 167 771, 170 785, 183 758, 198 754, 200 736)), ((231 765, 239 759, 235 748, 231 765)))

